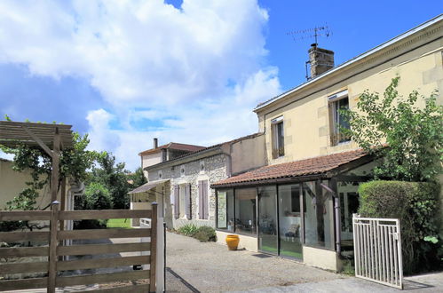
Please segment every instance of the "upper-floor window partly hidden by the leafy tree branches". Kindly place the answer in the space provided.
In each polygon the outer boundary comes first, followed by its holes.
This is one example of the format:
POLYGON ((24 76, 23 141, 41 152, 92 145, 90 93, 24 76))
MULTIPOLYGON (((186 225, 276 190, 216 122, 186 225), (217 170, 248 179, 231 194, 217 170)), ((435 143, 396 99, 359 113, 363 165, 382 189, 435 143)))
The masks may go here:
POLYGON ((335 95, 328 97, 330 115, 331 115, 331 144, 336 146, 340 143, 351 140, 345 136, 342 128, 350 129, 349 122, 340 113, 340 110, 349 109, 348 91, 340 91, 335 95))

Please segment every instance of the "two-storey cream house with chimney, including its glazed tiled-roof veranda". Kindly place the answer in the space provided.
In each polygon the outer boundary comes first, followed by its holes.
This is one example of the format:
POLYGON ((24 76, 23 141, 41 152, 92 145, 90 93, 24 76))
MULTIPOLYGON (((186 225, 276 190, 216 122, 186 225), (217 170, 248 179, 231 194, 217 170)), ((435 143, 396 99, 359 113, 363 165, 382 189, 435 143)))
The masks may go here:
POLYGON ((338 109, 355 107, 363 91, 384 92, 398 75, 403 96, 442 92, 442 24, 439 15, 337 67, 332 51, 313 44, 311 78, 254 109, 268 165, 210 185, 218 242, 239 234, 247 249, 339 271, 353 249, 357 189, 374 162, 340 133, 349 125, 338 109))

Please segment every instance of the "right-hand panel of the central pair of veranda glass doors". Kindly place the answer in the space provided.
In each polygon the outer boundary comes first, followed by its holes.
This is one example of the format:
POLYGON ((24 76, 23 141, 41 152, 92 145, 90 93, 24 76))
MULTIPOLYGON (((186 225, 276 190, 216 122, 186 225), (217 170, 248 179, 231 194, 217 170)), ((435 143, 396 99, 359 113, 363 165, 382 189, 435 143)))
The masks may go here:
POLYGON ((280 255, 303 259, 303 196, 300 185, 279 186, 280 255))

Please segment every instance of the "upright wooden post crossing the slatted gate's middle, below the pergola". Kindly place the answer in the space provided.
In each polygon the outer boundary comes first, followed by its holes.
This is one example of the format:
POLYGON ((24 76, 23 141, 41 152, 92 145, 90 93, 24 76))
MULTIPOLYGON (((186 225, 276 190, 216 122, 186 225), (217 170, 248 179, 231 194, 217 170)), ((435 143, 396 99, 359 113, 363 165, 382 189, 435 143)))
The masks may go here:
POLYGON ((55 292, 55 281, 57 277, 57 230, 59 226, 59 202, 51 202, 51 228, 49 241, 49 266, 48 266, 48 293, 55 292))

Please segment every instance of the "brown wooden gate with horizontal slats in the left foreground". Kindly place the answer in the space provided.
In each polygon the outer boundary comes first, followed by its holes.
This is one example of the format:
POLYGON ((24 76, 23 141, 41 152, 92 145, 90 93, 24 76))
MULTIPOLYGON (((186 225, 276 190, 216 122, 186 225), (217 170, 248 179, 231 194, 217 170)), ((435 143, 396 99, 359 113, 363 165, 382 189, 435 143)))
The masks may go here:
MULTIPOLYGON (((38 273, 44 276, 0 281, 0 290, 56 288, 67 286, 99 284, 115 281, 138 281, 137 285, 119 288, 88 290, 88 292, 155 292, 156 251, 157 251, 157 205, 152 210, 74 210, 59 211, 59 202, 53 202, 51 211, 0 211, 0 221, 49 220, 50 231, 0 232, 0 242, 48 242, 49 245, 35 247, 0 248, 0 258, 47 257, 45 261, 28 263, 5 263, 0 265, 0 277, 12 273, 38 273), (88 229, 63 231, 60 221, 107 218, 151 218, 150 228, 140 229, 88 229), (75 244, 63 245, 66 240, 97 240, 109 238, 149 237, 148 242, 75 244), (100 257, 66 260, 64 256, 101 255, 120 252, 144 252, 131 257, 100 257), (113 268, 128 265, 149 265, 147 270, 119 273, 82 273, 66 275, 65 271, 113 268)), ((161 248, 162 249, 162 248, 161 248)))

